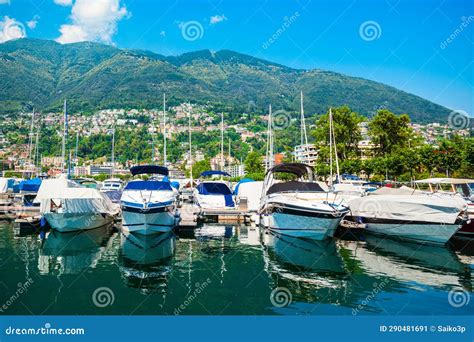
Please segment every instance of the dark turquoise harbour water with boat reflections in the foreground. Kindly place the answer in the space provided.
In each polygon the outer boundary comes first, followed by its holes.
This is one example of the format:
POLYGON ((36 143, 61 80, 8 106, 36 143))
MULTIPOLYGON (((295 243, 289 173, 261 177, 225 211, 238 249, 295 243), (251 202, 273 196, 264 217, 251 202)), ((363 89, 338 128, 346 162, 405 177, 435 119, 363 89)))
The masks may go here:
POLYGON ((232 225, 41 239, 0 223, 0 314, 466 315, 473 247, 315 243, 232 225))

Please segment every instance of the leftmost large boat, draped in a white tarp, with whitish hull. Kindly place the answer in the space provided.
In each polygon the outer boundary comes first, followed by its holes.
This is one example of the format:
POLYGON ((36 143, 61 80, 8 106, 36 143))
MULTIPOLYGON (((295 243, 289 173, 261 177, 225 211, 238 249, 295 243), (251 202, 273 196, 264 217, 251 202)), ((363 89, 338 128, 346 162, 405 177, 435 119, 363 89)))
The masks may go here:
POLYGON ((41 216, 59 232, 102 227, 119 213, 99 190, 83 187, 64 174, 43 180, 34 203, 39 203, 41 216))

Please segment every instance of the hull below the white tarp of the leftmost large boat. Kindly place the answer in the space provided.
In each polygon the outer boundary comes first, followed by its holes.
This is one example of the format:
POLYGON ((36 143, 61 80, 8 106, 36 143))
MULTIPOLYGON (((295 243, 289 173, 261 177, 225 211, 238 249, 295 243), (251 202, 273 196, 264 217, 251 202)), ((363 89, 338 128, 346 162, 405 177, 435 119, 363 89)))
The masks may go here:
POLYGON ((95 229, 113 222, 111 215, 98 213, 45 213, 43 216, 52 229, 61 233, 95 229))

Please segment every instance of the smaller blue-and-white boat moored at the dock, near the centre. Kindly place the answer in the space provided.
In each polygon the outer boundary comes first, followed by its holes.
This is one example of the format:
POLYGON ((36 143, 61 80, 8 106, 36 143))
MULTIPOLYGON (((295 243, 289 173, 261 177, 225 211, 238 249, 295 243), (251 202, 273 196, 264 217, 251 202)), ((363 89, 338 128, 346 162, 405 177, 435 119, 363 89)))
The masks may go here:
MULTIPOLYGON (((200 178, 210 176, 230 177, 224 171, 205 171, 200 178)), ((201 181, 193 192, 194 203, 201 210, 206 209, 235 209, 234 195, 227 183, 222 180, 201 181)))

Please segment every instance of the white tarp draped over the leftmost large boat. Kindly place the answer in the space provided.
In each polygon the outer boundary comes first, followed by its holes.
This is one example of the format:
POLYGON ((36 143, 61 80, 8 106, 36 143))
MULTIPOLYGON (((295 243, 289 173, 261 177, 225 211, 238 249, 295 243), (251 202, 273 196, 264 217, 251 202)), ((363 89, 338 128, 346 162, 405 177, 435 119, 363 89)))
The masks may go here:
POLYGON ((41 214, 60 207, 64 213, 115 214, 116 206, 97 189, 80 187, 65 176, 45 179, 41 183, 36 203, 40 203, 41 214))

